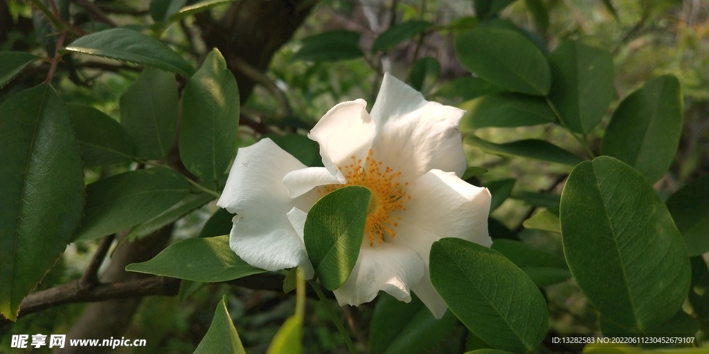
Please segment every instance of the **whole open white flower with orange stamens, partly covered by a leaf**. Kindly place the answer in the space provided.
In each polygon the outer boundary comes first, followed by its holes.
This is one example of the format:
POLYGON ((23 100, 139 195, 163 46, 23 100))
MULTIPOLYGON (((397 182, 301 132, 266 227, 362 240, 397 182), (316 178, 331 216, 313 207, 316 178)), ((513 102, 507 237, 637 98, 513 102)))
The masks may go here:
POLYGON ((458 125, 464 111, 425 101, 384 75, 372 113, 362 100, 335 105, 313 127, 325 167, 306 167, 270 139, 239 149, 217 205, 236 213, 231 248, 266 270, 303 267, 306 212, 342 185, 372 191, 364 241, 352 274, 335 290, 340 305, 359 305, 384 290, 418 295, 440 318, 446 304, 428 275, 431 244, 459 237, 490 246, 490 193, 460 179, 466 168, 458 125), (391 198, 396 195, 396 198, 391 198))

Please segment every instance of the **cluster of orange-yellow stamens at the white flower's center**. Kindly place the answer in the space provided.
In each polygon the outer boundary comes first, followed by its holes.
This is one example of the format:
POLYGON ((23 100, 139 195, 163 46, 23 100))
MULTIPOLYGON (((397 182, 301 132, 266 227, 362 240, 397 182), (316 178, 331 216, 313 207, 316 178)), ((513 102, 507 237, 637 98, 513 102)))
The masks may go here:
POLYGON ((326 185, 325 190, 318 190, 318 192, 328 194, 347 185, 362 185, 369 188, 372 197, 369 199, 367 222, 364 225, 364 234, 369 239, 369 246, 374 246, 375 239, 378 244, 381 244, 384 241, 384 234, 396 236, 394 228, 398 226, 397 220, 401 217, 394 217, 391 213, 395 210, 406 211, 403 202, 411 199, 411 195, 406 195, 405 190, 408 182, 403 185, 399 183, 401 172, 395 172, 389 166, 382 166, 381 162, 372 157, 372 149, 369 149, 364 164, 362 159, 352 156, 352 164, 337 169, 345 175, 347 183, 326 185))

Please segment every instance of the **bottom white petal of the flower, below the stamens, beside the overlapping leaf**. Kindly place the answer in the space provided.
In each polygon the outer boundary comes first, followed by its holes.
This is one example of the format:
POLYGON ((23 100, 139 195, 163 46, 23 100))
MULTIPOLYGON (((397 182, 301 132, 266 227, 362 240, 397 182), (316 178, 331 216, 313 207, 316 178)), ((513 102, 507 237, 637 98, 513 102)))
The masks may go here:
POLYGON ((340 306, 370 302, 379 290, 403 302, 411 301, 411 286, 420 281, 423 260, 415 251, 392 244, 363 244, 350 277, 334 291, 340 306))

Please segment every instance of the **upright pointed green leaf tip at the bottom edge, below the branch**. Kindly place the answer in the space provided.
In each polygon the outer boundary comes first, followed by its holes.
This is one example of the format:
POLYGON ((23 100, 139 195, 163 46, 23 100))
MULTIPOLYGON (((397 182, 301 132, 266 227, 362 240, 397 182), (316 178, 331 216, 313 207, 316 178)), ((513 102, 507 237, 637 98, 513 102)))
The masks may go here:
POLYGON ((226 309, 226 295, 222 297, 216 310, 214 310, 212 324, 209 325, 207 333, 204 334, 204 338, 199 342, 199 346, 194 350, 194 353, 246 354, 246 350, 241 344, 239 333, 236 332, 231 316, 226 309))

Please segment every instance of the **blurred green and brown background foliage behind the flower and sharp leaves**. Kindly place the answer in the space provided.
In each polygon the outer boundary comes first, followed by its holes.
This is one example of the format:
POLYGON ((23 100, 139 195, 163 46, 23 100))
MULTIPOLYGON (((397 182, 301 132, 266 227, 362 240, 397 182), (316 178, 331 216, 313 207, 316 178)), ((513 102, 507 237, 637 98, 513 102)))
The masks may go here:
MULTIPOLYGON (((272 0, 277 1, 277 0, 272 0)), ((147 28, 152 24, 150 1, 119 0, 57 1, 60 10, 84 28, 108 27, 91 9, 105 13, 108 21, 121 26, 147 28), (89 5, 86 5, 89 3, 89 5), (78 6, 77 6, 78 5, 78 6)), ((271 2, 271 1, 266 1, 271 2)), ((569 38, 586 38, 608 48, 615 64, 615 93, 608 108, 612 112, 621 98, 637 89, 653 76, 674 74, 681 82, 684 95, 684 125, 680 147, 669 173, 654 187, 661 195, 670 195, 681 185, 709 172, 709 2, 703 0, 539 0, 488 1, 508 3, 499 21, 510 21, 551 50, 569 38), (543 6, 542 10, 538 7, 543 6)), ((163 40, 191 64, 197 66, 213 43, 206 43, 208 28, 201 25, 209 18, 222 23, 238 21, 231 4, 217 6, 201 17, 187 17, 165 30, 163 40)), ((333 105, 341 101, 365 98, 369 107, 376 97, 382 72, 399 79, 416 81, 424 95, 432 101, 465 107, 473 98, 450 89, 455 79, 469 76, 457 62, 453 38, 461 28, 469 28, 480 19, 475 16, 473 1, 464 0, 323 0, 303 1, 298 6, 311 11, 295 31, 275 51, 264 77, 255 77, 256 85, 249 95, 242 95, 242 122, 239 144, 247 146, 267 133, 306 133, 333 105), (423 35, 395 45, 384 53, 372 54, 370 48, 377 36, 387 28, 405 21, 423 20, 434 24, 423 35), (333 62, 307 62, 296 54, 303 40, 327 30, 351 30, 359 33, 359 47, 364 56, 333 62), (435 59, 436 64, 430 59, 435 59), (426 66, 429 65, 429 66, 426 66), (422 70, 421 67, 424 67, 422 70), (421 76, 423 72, 423 76, 421 76), (419 77, 416 77, 416 75, 419 77), (423 80, 421 79, 423 77, 423 80), (413 79, 413 80, 412 80, 413 79)), ((0 0, 0 50, 27 51, 51 57, 56 36, 51 27, 27 2, 0 0)), ((279 23, 272 23, 277 26, 279 23)), ((224 50, 222 50, 224 52, 224 50)), ((237 54, 238 55, 238 54, 237 54)), ((225 57, 228 55, 225 54, 225 57)), ((57 72, 55 86, 65 101, 93 105, 119 118, 118 98, 135 80, 140 68, 117 65, 110 60, 84 62, 85 58, 66 56, 57 72)), ((27 89, 45 79, 48 62, 36 63, 0 90, 0 102, 11 94, 27 89)), ((239 79, 239 76, 237 76, 239 79)), ((252 78, 254 79, 254 78, 252 78)), ((184 82, 180 82, 184 86, 184 82)), ((238 82, 242 86, 242 82, 238 82)), ((181 87, 182 87, 181 86, 181 87)), ((240 89, 243 89, 240 87, 240 89)), ((243 91, 242 91, 243 92, 243 91)), ((591 147, 598 150, 601 133, 610 115, 590 137, 591 147)), ((476 135, 492 141, 535 137, 584 155, 581 145, 557 125, 518 128, 483 128, 476 135)), ((563 177, 570 167, 530 160, 484 154, 466 147, 469 166, 481 166, 488 172, 479 183, 502 178, 515 178, 510 197, 491 215, 520 239, 562 255, 559 234, 527 230, 522 222, 535 209, 520 198, 525 191, 560 193, 563 177)), ((86 183, 99 176, 111 176, 129 169, 129 164, 87 169, 86 183)), ((210 203, 191 212, 177 222, 173 240, 196 236, 206 219, 217 210, 210 203)), ((497 231, 492 232, 499 232, 497 231)), ((77 279, 86 268, 97 243, 71 244, 40 288, 49 288, 77 279)), ((596 313, 570 279, 545 287, 549 302, 552 333, 596 333, 596 313)), ((148 346, 130 353, 191 353, 208 329, 214 304, 223 295, 228 310, 248 353, 264 353, 283 321, 292 314, 294 297, 278 292, 249 290, 233 285, 206 285, 180 301, 177 297, 147 297, 133 316, 125 332, 126 338, 146 338, 148 346)), ((69 304, 31 314, 12 326, 1 329, 0 352, 9 350, 11 334, 66 333, 82 314, 85 304, 69 304)), ((372 316, 374 303, 344 309, 342 316, 360 346, 366 343, 364 328, 372 316)), ((325 309, 316 301, 308 302, 308 319, 303 336, 306 353, 346 353, 344 343, 325 309)), ((437 353, 455 353, 466 347, 459 340, 463 331, 457 326, 437 347, 437 353)), ((706 331, 706 329, 705 329, 706 331)), ((468 338, 470 340, 470 338, 468 338)), ((37 353, 48 348, 34 350, 37 353)), ((125 350, 123 348, 122 350, 125 350)), ((12 353, 21 353, 13 350, 12 353)))

